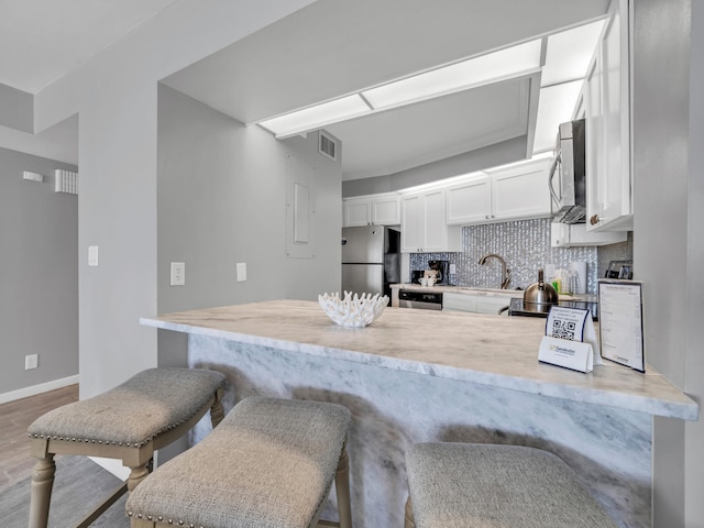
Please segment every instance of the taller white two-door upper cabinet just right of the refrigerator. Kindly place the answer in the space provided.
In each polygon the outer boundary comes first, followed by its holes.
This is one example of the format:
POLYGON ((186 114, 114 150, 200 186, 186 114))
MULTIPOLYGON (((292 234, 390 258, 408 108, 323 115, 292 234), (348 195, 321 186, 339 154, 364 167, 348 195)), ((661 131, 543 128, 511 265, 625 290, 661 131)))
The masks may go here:
POLYGON ((462 250, 461 228, 450 228, 446 222, 444 189, 405 195, 400 202, 403 253, 440 253, 462 250))

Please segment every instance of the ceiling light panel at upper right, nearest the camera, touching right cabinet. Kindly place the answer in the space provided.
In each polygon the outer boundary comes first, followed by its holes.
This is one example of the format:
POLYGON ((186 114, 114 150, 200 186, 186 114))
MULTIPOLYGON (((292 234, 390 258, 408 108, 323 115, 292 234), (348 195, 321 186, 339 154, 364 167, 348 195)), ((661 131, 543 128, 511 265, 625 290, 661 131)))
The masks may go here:
POLYGON ((600 20, 550 35, 541 86, 583 79, 604 23, 604 20, 600 20))

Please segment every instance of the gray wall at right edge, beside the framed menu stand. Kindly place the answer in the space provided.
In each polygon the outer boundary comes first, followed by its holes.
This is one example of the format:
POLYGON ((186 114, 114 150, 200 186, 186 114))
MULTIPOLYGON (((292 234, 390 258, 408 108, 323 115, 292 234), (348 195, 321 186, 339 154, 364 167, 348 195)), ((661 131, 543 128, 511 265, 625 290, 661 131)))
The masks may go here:
MULTIPOLYGON (((701 1, 636 0, 632 94, 634 260, 645 283, 646 356, 700 405, 703 16, 701 1)), ((653 420, 653 485, 654 527, 704 526, 702 420, 653 420)))

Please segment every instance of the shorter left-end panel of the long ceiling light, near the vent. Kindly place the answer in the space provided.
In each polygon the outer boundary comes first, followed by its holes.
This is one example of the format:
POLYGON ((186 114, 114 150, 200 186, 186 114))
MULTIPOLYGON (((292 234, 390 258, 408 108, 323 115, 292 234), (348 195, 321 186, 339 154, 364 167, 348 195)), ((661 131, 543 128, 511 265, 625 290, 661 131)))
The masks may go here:
POLYGON ((330 123, 344 121, 345 119, 359 118, 370 113, 371 109, 359 96, 352 95, 333 101, 316 105, 296 112, 286 113, 278 118, 261 121, 258 124, 276 135, 284 139, 290 135, 300 134, 310 130, 320 129, 330 123))

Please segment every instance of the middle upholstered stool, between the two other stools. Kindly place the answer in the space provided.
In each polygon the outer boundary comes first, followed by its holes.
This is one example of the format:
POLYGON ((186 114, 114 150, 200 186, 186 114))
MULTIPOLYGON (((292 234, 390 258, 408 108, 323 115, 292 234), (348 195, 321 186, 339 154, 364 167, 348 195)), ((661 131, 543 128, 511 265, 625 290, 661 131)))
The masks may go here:
POLYGON ((245 398, 130 495, 131 526, 351 528, 349 425, 340 405, 245 398), (333 480, 340 522, 318 525, 333 480))

